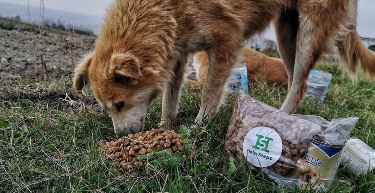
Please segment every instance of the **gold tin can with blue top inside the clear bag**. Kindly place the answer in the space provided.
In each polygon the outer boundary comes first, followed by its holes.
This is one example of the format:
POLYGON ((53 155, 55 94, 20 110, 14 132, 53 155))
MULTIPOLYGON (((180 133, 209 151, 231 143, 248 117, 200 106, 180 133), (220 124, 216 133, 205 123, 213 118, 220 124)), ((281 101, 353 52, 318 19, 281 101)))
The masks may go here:
POLYGON ((300 186, 329 188, 335 180, 344 145, 330 145, 312 139, 304 156, 309 165, 309 171, 301 174, 300 186))

